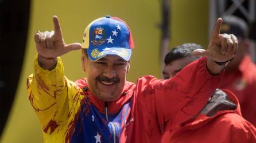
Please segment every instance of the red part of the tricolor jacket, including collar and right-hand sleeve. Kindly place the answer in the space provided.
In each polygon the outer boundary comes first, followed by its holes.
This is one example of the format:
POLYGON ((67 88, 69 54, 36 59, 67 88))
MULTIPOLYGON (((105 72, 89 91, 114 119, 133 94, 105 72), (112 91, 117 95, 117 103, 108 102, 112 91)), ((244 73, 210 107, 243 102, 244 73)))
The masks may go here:
MULTIPOLYGON (((125 124, 121 124, 121 142, 160 142, 161 136, 172 126, 181 124, 198 113, 218 86, 221 76, 212 76, 206 69, 206 58, 201 58, 172 80, 157 80, 143 76, 137 84, 126 82, 123 96, 108 102, 109 114, 117 114, 131 100, 125 124), (193 76, 191 76, 193 75, 193 76)), ((87 86, 86 79, 76 82, 80 88, 87 86)), ((87 92, 88 100, 99 112, 105 114, 104 101, 87 92)), ((100 133, 99 133, 100 134, 100 133)))

